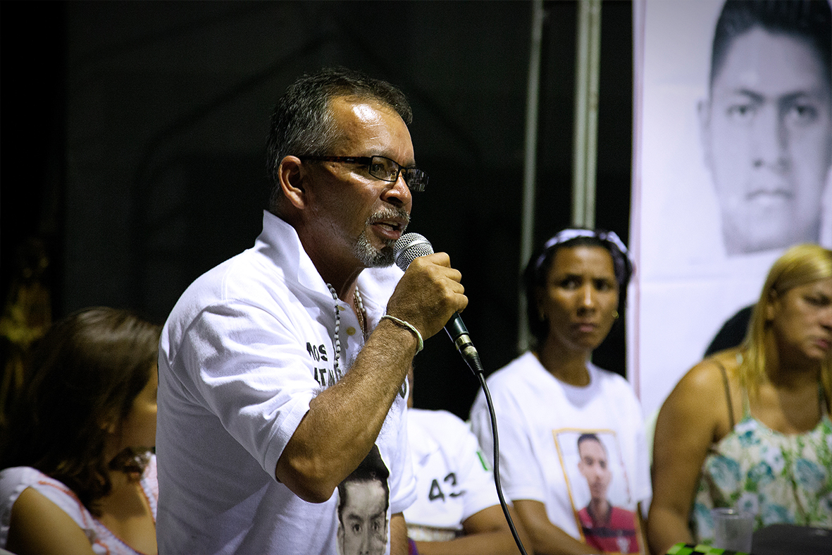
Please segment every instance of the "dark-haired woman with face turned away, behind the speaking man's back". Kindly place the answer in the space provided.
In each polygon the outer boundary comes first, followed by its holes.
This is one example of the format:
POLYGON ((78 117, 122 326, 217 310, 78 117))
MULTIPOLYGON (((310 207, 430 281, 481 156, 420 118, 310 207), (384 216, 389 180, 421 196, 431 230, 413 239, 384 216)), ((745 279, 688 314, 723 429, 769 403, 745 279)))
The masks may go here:
POLYGON ((0 547, 156 553, 161 328, 87 308, 38 343, 0 443, 0 547))

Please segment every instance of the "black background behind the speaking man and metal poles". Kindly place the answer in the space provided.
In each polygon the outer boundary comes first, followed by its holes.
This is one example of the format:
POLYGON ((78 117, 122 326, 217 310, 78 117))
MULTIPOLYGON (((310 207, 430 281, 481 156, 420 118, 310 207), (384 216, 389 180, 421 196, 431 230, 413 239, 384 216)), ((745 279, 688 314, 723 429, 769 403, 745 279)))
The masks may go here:
MULTIPOLYGON (((535 245, 571 219, 577 3, 544 4, 535 245)), ((450 254, 488 373, 518 355, 520 209, 532 4, 2 2, 0 278, 42 241, 52 316, 133 308, 163 322, 199 274, 250 247, 275 99, 344 65, 401 87, 430 175, 410 231, 450 254)), ((597 227, 626 241, 631 3, 602 3, 597 227)), ((7 303, 6 310, 9 305, 7 303)), ((624 373, 623 318, 594 354, 624 373)), ((443 333, 442 333, 443 335, 443 333)), ((468 416, 478 383, 439 335, 415 404, 468 416)))

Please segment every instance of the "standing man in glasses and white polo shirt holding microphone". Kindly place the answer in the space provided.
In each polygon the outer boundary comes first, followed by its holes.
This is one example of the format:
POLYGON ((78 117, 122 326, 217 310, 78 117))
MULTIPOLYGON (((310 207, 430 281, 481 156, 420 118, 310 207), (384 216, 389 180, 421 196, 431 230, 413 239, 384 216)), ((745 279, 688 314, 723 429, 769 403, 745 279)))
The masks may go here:
POLYGON ((376 449, 388 498, 374 542, 407 553, 406 376, 468 303, 447 254, 392 266, 428 182, 410 121, 398 88, 345 69, 277 102, 263 231, 191 284, 162 333, 162 555, 337 555, 339 484, 376 449))

